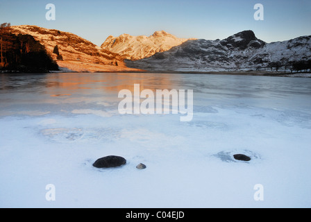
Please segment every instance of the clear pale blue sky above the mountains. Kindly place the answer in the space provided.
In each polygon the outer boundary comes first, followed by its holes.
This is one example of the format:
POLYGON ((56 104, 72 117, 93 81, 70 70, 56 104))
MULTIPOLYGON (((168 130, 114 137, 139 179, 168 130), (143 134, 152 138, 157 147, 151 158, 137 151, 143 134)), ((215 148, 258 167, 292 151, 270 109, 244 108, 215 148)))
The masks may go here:
POLYGON ((0 23, 31 24, 68 31, 101 45, 108 35, 152 35, 224 39, 253 30, 265 42, 311 35, 310 0, 0 0, 0 23), (47 3, 56 20, 47 21, 47 3), (255 3, 264 21, 255 21, 255 3))

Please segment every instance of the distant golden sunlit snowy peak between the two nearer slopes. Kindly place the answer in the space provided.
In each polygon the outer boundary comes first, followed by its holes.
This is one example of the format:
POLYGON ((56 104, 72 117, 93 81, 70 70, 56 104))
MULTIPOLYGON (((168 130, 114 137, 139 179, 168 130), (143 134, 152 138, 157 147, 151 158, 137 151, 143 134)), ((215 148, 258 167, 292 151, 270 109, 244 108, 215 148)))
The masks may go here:
POLYGON ((145 35, 132 36, 128 34, 122 34, 118 37, 110 35, 106 41, 101 44, 101 48, 113 53, 118 53, 128 60, 140 60, 153 56, 155 53, 167 51, 171 49, 171 47, 178 46, 187 40, 194 39, 178 38, 165 31, 155 31, 155 33, 149 37, 145 35))

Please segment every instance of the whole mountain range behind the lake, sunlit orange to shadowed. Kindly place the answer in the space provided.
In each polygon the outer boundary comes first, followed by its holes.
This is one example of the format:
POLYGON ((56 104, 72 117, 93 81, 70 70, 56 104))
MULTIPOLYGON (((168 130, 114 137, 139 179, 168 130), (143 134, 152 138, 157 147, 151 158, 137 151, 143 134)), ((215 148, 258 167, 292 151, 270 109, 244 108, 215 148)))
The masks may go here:
POLYGON ((28 25, 11 27, 15 35, 32 35, 44 45, 62 71, 268 71, 273 67, 289 71, 295 62, 310 63, 311 58, 311 35, 267 43, 253 31, 224 40, 183 39, 155 31, 149 37, 110 35, 96 46, 73 33, 28 25))

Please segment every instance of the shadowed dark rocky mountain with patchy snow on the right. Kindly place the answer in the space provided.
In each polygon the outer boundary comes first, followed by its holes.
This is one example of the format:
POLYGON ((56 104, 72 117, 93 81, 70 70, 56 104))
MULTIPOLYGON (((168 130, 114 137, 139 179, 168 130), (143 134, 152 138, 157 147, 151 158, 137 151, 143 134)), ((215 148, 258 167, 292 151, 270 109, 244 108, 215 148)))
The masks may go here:
POLYGON ((253 31, 242 31, 224 40, 190 40, 150 58, 126 60, 126 64, 149 71, 284 70, 292 62, 310 58, 311 35, 266 43, 253 31))

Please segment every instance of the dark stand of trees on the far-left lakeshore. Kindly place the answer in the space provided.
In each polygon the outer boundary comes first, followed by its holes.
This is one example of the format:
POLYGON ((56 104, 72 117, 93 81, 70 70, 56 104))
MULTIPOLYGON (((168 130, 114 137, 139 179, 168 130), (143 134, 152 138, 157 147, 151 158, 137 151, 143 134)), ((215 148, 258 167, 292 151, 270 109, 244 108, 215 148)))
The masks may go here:
POLYGON ((57 63, 32 35, 15 35, 10 23, 0 25, 0 69, 22 72, 58 70, 57 63))

